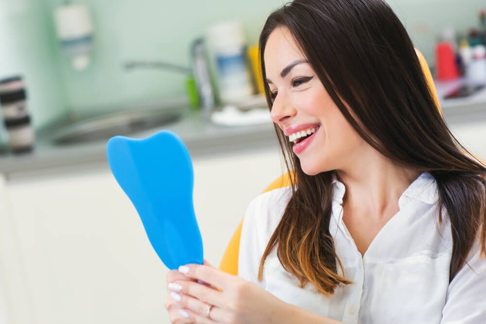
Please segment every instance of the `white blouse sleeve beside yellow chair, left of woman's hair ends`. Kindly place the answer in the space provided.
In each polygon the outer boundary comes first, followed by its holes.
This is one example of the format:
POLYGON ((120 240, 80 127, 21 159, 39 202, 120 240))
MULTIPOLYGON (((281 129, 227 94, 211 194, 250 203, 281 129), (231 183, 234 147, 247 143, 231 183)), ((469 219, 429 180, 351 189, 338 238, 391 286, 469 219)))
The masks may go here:
POLYGON ((261 216, 259 210, 260 203, 260 199, 257 198, 246 209, 238 255, 238 275, 264 288, 263 283, 258 281, 258 268, 262 256, 258 233, 260 229, 258 220, 261 216))

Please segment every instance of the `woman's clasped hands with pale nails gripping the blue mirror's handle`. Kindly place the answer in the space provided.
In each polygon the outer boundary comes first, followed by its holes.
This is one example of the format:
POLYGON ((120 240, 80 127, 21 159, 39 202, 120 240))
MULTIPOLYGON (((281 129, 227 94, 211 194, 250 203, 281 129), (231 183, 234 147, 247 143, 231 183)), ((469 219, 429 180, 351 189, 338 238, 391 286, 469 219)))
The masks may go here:
POLYGON ((287 304, 257 285, 206 262, 205 265, 182 266, 179 273, 171 271, 167 280, 170 281, 169 298, 173 300, 167 302, 166 307, 172 323, 285 322, 283 306, 287 304))

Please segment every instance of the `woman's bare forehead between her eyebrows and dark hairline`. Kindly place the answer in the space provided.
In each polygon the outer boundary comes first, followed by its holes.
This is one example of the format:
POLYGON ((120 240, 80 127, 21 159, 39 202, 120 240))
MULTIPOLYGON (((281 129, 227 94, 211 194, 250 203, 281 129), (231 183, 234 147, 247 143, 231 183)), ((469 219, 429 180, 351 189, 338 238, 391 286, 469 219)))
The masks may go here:
POLYGON ((290 31, 286 27, 278 27, 268 36, 263 59, 266 73, 271 77, 279 74, 289 63, 305 57, 290 31))

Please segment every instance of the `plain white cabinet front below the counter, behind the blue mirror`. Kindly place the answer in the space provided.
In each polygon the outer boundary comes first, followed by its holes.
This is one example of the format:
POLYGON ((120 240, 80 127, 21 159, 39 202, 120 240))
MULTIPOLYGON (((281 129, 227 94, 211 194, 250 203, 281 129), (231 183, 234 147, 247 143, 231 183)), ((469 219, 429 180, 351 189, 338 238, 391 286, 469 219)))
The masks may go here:
MULTIPOLYGON (((278 150, 268 151, 193 161, 195 211, 215 266, 246 205, 281 174, 278 150)), ((169 323, 165 266, 107 166, 12 178, 5 191, 27 294, 6 297, 23 305, 12 323, 169 323)))

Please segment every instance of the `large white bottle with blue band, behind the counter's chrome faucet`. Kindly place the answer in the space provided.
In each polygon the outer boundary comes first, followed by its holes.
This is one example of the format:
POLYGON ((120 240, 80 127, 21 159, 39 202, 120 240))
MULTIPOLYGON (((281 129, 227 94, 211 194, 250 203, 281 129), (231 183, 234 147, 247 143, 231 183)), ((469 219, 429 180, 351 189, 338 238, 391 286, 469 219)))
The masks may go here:
POLYGON ((219 94, 223 103, 239 102, 253 95, 254 88, 246 57, 246 41, 239 22, 213 25, 207 33, 216 63, 219 94))

